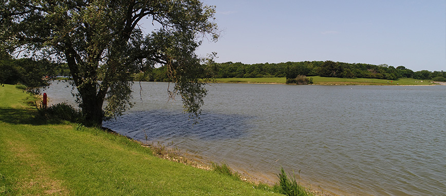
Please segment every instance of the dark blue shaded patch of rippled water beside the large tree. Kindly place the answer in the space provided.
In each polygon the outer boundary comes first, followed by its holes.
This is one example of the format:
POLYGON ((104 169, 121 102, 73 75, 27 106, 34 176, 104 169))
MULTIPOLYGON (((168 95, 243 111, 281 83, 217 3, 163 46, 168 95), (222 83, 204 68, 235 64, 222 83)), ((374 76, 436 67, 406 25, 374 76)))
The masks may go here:
POLYGON ((222 140, 246 137, 252 125, 246 123, 251 117, 203 113, 199 123, 193 124, 188 115, 168 110, 139 111, 105 121, 104 127, 115 132, 145 141, 170 140, 189 137, 200 140, 222 140))

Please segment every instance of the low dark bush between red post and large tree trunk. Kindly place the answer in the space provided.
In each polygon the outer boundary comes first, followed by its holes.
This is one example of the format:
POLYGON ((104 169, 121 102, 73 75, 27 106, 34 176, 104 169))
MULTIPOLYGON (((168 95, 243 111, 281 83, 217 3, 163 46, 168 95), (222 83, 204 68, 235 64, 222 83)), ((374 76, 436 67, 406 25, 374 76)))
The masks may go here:
POLYGON ((48 120, 66 120, 73 123, 82 123, 84 121, 82 112, 67 103, 40 107, 38 111, 41 116, 48 120))

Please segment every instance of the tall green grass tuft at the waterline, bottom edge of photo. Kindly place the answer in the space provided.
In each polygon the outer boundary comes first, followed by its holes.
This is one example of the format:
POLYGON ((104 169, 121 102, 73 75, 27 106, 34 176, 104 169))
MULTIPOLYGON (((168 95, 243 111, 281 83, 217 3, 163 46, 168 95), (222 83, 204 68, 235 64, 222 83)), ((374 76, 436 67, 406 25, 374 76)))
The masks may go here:
MULTIPOLYGON (((299 175, 300 175, 299 170, 299 175)), ((279 178, 279 186, 280 186, 280 192, 285 195, 289 196, 307 196, 307 195, 313 195, 309 191, 307 191, 304 187, 300 185, 300 183, 296 182, 296 178, 293 175, 293 178, 290 179, 287 174, 285 173, 285 170, 283 167, 281 167, 281 172, 277 175, 279 178)))

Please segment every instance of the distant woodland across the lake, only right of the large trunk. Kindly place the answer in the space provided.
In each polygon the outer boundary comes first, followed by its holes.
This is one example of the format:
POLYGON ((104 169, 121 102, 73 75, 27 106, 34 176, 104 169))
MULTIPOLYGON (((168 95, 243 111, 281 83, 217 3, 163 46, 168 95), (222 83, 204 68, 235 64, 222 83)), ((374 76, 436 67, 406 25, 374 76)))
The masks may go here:
MULTIPOLYGON (((281 63, 244 64, 241 62, 212 63, 208 65, 214 78, 259 78, 286 77, 287 79, 302 76, 322 76, 338 78, 377 78, 397 80, 398 78, 414 78, 420 80, 446 81, 446 72, 422 70, 414 72, 404 66, 388 66, 387 64, 346 63, 333 61, 302 61, 281 63)), ((151 74, 136 74, 136 80, 169 81, 166 68, 152 70, 151 74)))

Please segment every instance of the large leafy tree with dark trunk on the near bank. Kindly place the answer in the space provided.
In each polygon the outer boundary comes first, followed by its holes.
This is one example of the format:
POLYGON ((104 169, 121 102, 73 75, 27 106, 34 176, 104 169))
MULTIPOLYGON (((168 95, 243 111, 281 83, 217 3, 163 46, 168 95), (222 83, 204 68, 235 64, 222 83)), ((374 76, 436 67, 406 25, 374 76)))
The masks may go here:
POLYGON ((1 50, 66 62, 87 125, 122 114, 131 106, 132 74, 157 65, 168 67, 171 96, 199 114, 206 89, 195 49, 218 38, 215 7, 199 0, 0 1, 1 50), (154 30, 145 32, 142 21, 154 30))

